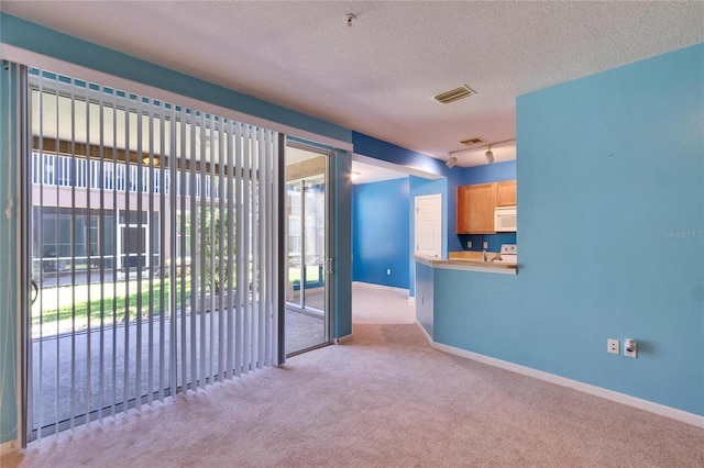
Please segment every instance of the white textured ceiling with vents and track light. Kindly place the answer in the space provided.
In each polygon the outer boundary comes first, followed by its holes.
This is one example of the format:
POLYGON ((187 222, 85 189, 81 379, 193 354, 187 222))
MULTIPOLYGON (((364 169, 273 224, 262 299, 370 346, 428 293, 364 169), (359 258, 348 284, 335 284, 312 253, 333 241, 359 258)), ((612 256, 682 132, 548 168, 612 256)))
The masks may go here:
MULTIPOLYGON (((704 2, 11 1, 6 13, 447 160, 517 96, 704 42, 704 2), (351 27, 346 13, 356 14, 351 27), (468 85, 447 105, 432 96, 468 85)), ((492 148, 516 157, 515 143, 492 148)), ((485 146, 458 153, 484 164, 485 146)))

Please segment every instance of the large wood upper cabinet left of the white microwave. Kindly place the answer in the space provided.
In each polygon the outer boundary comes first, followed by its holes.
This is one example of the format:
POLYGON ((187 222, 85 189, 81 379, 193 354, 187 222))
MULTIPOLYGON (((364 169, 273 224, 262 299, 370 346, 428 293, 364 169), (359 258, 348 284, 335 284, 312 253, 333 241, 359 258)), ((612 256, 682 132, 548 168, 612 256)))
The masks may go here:
POLYGON ((494 232, 495 183, 458 187, 457 207, 458 234, 494 232))

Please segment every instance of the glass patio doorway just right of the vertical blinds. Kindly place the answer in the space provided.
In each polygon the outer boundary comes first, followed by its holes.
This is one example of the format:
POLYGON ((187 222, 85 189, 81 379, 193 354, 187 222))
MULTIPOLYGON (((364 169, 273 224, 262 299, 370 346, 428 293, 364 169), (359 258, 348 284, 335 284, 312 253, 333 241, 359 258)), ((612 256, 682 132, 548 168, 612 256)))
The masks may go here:
POLYGON ((330 154, 286 147, 286 354, 330 343, 330 154))

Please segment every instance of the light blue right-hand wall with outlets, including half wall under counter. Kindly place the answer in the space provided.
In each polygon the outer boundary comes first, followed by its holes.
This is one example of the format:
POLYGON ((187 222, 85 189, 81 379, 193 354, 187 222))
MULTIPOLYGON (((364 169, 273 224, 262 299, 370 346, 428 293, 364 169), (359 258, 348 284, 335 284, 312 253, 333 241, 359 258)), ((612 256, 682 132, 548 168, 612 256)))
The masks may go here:
POLYGON ((436 271, 435 339, 704 415, 703 83, 700 44, 519 97, 518 275, 436 271))

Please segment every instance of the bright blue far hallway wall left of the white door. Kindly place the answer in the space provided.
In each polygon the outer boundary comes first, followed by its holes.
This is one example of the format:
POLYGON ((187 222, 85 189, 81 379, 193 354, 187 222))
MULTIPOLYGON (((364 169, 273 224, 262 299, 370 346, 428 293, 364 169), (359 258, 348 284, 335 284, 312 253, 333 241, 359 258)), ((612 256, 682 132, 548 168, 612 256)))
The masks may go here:
POLYGON ((408 289, 408 205, 407 177, 353 186, 354 281, 408 289))

